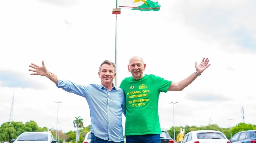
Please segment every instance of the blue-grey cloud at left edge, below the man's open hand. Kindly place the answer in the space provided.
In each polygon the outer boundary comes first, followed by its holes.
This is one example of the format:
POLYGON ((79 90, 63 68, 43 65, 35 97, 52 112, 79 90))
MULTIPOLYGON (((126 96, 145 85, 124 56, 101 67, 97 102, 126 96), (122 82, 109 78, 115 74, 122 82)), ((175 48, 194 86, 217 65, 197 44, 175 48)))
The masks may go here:
POLYGON ((2 87, 45 89, 47 86, 31 80, 29 75, 14 71, 0 69, 0 83, 2 87))

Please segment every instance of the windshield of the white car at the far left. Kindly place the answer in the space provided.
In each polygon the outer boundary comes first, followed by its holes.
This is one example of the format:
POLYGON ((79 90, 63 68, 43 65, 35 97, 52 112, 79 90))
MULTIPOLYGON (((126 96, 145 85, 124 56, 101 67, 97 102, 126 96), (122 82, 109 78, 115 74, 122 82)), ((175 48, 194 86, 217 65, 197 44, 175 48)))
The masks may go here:
POLYGON ((17 141, 48 141, 48 134, 25 133, 17 141))

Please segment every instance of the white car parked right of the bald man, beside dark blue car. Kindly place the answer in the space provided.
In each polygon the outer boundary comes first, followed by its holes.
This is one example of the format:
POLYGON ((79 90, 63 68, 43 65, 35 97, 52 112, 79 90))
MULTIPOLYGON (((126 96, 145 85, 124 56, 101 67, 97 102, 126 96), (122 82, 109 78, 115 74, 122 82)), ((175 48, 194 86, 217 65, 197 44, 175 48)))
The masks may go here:
POLYGON ((186 134, 182 143, 230 143, 220 131, 198 130, 186 134))

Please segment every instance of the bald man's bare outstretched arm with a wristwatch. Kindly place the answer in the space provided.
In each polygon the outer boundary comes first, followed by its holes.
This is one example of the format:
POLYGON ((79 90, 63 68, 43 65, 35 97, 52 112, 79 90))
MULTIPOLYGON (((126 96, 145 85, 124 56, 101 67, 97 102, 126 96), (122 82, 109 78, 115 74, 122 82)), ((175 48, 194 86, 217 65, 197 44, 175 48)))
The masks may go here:
POLYGON ((208 68, 211 64, 208 64, 209 60, 208 58, 206 58, 204 60, 202 60, 202 62, 197 65, 197 62, 195 63, 195 68, 196 71, 193 72, 193 74, 191 74, 189 77, 187 77, 186 79, 181 80, 178 83, 172 82, 170 87, 168 88, 168 91, 181 91, 183 90, 185 87, 187 87, 188 85, 190 85, 190 83, 192 83, 198 76, 201 75, 201 73, 208 68))

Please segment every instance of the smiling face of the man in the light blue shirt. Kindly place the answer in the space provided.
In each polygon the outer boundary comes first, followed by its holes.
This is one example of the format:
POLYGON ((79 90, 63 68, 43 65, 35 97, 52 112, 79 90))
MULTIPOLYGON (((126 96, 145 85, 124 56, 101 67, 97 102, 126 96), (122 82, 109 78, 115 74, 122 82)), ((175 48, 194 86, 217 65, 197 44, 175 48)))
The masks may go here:
POLYGON ((111 64, 103 64, 99 70, 99 77, 103 86, 112 85, 113 79, 116 77, 114 66, 111 64))

